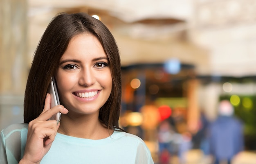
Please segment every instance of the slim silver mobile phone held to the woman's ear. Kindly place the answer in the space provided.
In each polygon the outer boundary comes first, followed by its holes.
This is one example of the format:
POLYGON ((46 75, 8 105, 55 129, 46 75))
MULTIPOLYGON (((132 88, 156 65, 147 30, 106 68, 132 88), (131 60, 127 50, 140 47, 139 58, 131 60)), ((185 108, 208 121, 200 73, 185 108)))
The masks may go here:
MULTIPOLYGON (((49 93, 51 94, 51 108, 60 105, 60 100, 58 98, 58 91, 57 91, 57 85, 55 82, 54 77, 51 79, 51 84, 49 86, 49 93)), ((58 112, 57 114, 54 114, 49 120, 56 120, 59 122, 61 120, 61 112, 58 112)))

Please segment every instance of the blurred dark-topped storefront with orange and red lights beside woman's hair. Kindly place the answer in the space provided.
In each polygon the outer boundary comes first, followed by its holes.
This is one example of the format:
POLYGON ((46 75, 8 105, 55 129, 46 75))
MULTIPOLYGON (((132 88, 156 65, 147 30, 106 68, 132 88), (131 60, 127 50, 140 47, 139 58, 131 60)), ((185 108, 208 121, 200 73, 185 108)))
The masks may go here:
POLYGON ((180 138, 181 134, 197 131, 199 81, 194 68, 176 59, 122 67, 120 124, 146 141, 155 160, 159 156, 157 133, 162 121, 171 119, 175 133, 180 138), (138 124, 131 123, 130 119, 136 119, 136 116, 130 117, 132 114, 140 114, 138 124))

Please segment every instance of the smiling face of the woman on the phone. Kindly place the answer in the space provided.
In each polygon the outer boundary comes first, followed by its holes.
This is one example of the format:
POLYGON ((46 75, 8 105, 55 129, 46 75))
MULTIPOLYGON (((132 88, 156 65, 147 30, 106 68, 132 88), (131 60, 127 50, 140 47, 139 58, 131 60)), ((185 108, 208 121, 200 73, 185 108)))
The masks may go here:
POLYGON ((73 37, 60 59, 56 83, 60 101, 69 114, 99 112, 112 90, 108 58, 91 34, 73 37))

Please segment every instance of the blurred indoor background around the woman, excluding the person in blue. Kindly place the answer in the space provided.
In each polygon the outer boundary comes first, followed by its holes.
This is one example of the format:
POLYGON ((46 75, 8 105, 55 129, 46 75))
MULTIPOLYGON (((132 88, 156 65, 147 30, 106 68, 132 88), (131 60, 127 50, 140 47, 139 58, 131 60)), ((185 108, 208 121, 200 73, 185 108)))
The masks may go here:
POLYGON ((244 125, 245 149, 233 163, 256 161, 255 0, 0 0, 0 129, 23 122, 34 51, 59 12, 86 12, 114 35, 120 125, 146 142, 156 164, 209 163, 202 131, 223 99, 244 125), (170 149, 160 153, 162 140, 170 149))

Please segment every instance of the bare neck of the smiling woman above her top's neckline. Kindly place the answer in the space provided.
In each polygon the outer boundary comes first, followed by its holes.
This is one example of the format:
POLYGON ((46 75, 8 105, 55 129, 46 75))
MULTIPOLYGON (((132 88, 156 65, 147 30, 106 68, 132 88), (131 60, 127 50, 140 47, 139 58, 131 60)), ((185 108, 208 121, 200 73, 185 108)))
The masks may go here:
POLYGON ((58 133, 78 138, 99 140, 107 138, 113 131, 99 120, 98 115, 72 117, 68 114, 61 116, 58 133))

